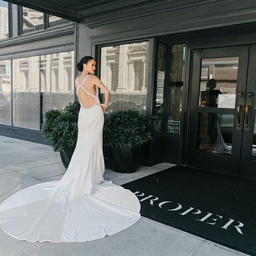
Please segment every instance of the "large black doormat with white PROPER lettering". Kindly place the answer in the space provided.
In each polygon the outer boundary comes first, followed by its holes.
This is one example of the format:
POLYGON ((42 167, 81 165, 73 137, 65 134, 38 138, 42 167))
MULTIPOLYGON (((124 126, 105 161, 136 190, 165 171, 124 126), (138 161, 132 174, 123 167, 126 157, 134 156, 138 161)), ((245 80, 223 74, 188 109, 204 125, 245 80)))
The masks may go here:
POLYGON ((122 186, 142 216, 256 255, 256 180, 175 166, 122 186))

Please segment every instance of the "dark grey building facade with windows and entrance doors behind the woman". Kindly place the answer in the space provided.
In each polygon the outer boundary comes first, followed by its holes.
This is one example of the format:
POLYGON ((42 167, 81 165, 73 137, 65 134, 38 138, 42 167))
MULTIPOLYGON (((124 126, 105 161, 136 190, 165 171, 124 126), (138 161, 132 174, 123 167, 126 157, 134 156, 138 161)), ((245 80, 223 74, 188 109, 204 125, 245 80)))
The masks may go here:
POLYGON ((45 143, 45 112, 76 99, 75 63, 92 55, 108 113, 159 116, 149 165, 256 177, 253 1, 0 2, 1 135, 45 143))

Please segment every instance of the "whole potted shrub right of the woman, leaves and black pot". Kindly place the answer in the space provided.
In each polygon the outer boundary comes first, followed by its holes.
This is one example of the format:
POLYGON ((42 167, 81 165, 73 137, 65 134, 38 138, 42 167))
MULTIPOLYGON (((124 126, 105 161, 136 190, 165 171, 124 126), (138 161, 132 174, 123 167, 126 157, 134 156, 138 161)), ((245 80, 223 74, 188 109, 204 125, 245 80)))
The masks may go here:
POLYGON ((143 159, 143 145, 153 140, 157 116, 117 111, 105 118, 103 142, 114 171, 135 172, 143 159))

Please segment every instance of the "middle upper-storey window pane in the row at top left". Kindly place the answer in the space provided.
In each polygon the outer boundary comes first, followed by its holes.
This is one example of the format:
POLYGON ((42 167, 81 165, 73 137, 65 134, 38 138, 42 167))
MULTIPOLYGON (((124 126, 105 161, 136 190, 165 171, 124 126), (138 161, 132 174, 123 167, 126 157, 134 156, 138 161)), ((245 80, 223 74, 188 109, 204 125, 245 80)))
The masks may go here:
POLYGON ((43 12, 22 7, 22 33, 43 29, 43 12))

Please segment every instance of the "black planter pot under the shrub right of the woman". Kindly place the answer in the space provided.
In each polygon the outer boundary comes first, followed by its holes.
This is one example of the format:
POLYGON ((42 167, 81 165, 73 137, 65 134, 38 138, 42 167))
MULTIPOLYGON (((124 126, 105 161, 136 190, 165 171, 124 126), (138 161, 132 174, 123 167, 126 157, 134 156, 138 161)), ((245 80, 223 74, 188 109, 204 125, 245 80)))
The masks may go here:
POLYGON ((111 167, 116 172, 131 173, 137 171, 144 155, 143 147, 139 148, 112 148, 107 147, 107 154, 111 167))

